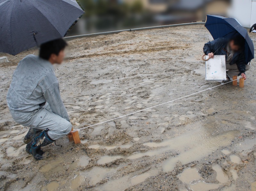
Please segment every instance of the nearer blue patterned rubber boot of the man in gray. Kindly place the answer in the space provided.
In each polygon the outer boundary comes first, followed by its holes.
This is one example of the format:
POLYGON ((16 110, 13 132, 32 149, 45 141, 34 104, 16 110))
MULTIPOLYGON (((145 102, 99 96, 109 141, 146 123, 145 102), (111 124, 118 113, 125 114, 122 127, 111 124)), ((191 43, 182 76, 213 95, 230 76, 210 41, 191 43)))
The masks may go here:
POLYGON ((43 160, 50 157, 49 152, 44 152, 41 147, 45 147, 48 144, 54 142, 48 134, 47 131, 41 132, 38 136, 34 137, 26 146, 26 151, 33 155, 36 160, 43 160))

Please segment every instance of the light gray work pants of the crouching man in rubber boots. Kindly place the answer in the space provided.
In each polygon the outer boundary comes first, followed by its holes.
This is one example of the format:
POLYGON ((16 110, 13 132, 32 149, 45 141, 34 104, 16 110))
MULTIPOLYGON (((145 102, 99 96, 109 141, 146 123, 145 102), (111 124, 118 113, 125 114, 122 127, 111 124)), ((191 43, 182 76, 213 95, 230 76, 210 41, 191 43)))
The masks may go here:
POLYGON ((36 109, 32 112, 10 112, 14 121, 20 125, 41 130, 49 129, 48 135, 52 140, 57 140, 68 135, 72 128, 69 121, 57 114, 52 113, 52 110, 47 102, 44 107, 36 109))

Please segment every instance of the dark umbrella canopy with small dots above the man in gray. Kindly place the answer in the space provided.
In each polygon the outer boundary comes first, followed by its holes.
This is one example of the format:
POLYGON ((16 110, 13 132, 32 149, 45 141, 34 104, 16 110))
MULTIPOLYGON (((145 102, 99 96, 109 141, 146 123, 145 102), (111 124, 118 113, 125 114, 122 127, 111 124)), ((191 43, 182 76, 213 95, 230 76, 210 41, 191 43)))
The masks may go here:
POLYGON ((64 37, 83 14, 76 0, 0 0, 0 52, 17 55, 47 36, 64 37))

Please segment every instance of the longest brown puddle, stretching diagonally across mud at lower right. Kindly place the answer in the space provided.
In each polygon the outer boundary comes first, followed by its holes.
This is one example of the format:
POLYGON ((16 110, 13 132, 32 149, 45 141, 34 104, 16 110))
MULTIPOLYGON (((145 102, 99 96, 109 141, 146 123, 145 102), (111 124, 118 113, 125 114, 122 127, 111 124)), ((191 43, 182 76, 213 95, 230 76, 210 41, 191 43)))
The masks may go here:
MULTIPOLYGON (((195 160, 200 160, 204 156, 211 154, 212 151, 216 151, 219 147, 230 145, 238 133, 239 131, 226 131, 220 135, 208 137, 208 139, 201 139, 201 142, 197 145, 194 144, 193 147, 191 146, 191 149, 164 161, 162 166, 164 172, 172 171, 178 161, 184 165, 195 160)), ((175 144, 179 145, 179 143, 175 144)))

